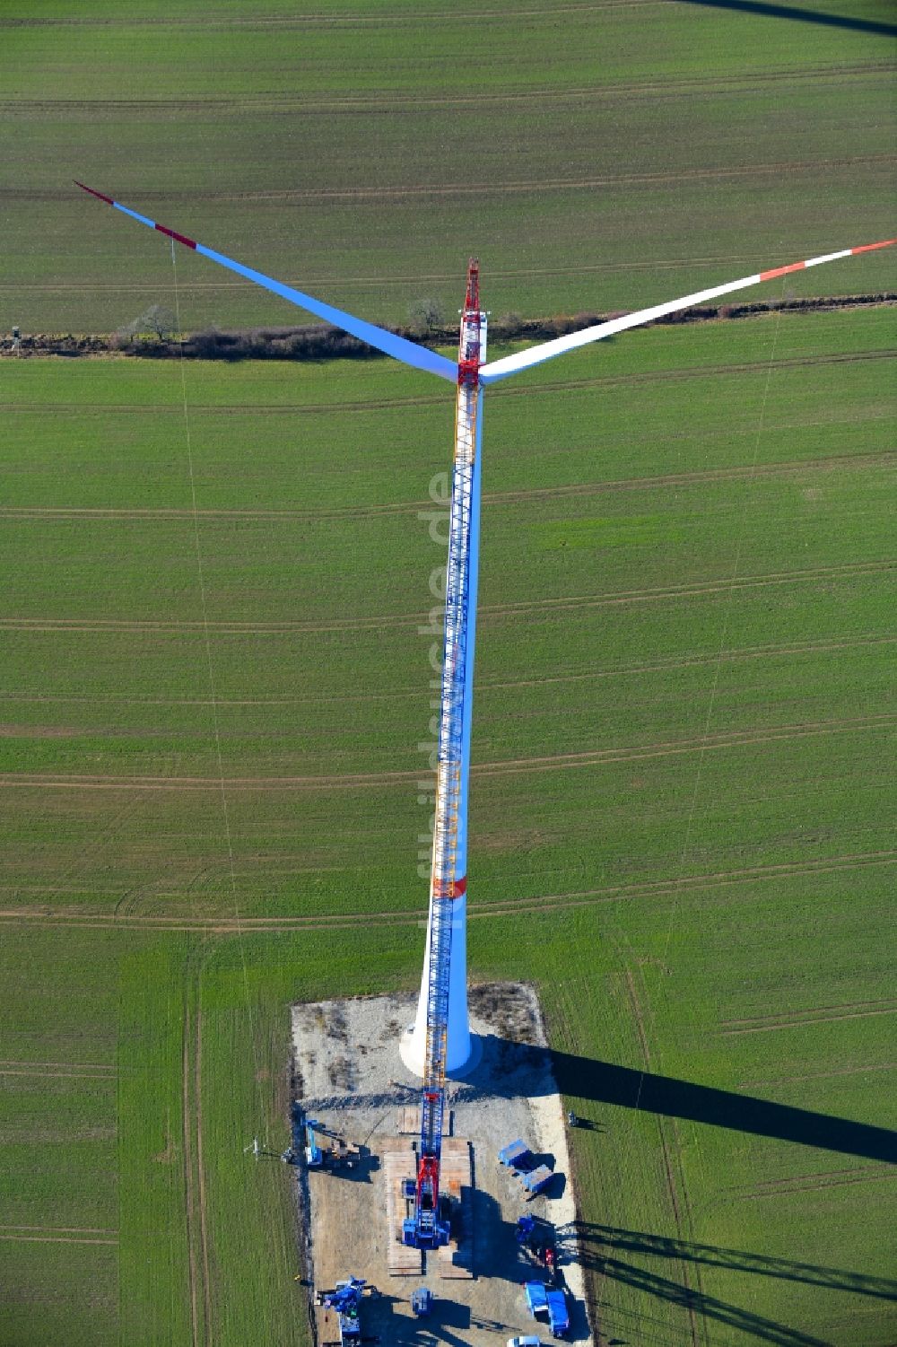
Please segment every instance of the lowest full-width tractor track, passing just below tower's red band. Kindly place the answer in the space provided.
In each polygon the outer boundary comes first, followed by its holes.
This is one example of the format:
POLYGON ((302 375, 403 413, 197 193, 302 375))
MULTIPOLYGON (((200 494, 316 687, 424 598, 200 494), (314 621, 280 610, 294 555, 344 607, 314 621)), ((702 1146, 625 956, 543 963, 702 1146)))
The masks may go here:
MULTIPOLYGON (((599 902, 620 902, 637 898, 664 898, 677 892, 700 892, 703 889, 727 888, 730 885, 753 884, 769 878, 800 878, 808 874, 831 874, 843 870, 857 870, 867 866, 893 865, 897 862, 897 850, 866 851, 839 857, 827 857, 819 861, 792 861, 777 865, 753 866, 750 869, 715 872, 708 874, 686 876, 682 880, 652 880, 644 884, 616 885, 606 889, 579 889, 568 893, 548 893, 535 897, 502 898, 496 902, 474 904, 467 916, 471 920, 496 917, 520 912, 551 912, 563 908, 593 907, 599 902)), ((381 921, 393 925, 420 925, 424 923, 422 911, 403 912, 346 912, 314 916, 286 916, 286 917, 248 917, 242 916, 240 928, 252 932, 280 932, 280 931, 335 931, 357 929, 360 923, 381 921)), ((34 908, 7 908, 0 909, 0 923, 8 924, 27 923, 35 927, 85 927, 90 929, 160 929, 160 931, 205 931, 210 933, 228 933, 237 929, 233 917, 182 917, 171 915, 144 915, 128 913, 116 916, 102 912, 54 912, 47 907, 34 908)))

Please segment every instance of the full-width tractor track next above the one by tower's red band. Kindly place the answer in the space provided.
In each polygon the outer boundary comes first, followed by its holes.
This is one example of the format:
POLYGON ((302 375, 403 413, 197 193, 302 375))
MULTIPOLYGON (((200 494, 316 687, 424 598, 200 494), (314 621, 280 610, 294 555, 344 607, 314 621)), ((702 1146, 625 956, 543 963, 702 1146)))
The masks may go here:
MULTIPOLYGON (((642 762, 652 758, 677 757, 680 754, 752 748, 761 744, 778 744, 792 740, 816 738, 827 734, 844 734, 857 730, 886 729, 897 722, 897 713, 862 717, 840 717, 832 721, 816 721, 801 725, 769 726, 764 730, 723 730, 717 734, 700 735, 694 740, 671 740, 661 744, 633 745, 618 749, 594 749, 585 753, 554 753, 532 758, 508 758, 497 762, 479 762, 471 766, 475 777, 520 776, 529 772, 558 772, 574 768, 603 766, 613 762, 642 762)), ((419 770, 346 773, 341 776, 256 776, 226 777, 230 789, 242 791, 357 791, 381 789, 407 785, 418 781, 419 770)), ((186 791, 202 792, 220 788, 221 783, 205 776, 43 776, 42 773, 1 773, 0 788, 30 788, 44 791, 186 791)))

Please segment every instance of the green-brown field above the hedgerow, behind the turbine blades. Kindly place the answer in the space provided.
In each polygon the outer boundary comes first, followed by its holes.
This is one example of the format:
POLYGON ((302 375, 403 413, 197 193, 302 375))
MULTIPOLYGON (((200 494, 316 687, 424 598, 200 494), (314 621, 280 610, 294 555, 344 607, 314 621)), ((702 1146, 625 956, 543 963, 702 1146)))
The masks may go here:
MULTIPOLYGON (((9 0, 0 327, 171 307, 167 241, 73 178, 380 322, 430 295, 453 315, 470 252, 486 307, 548 315, 890 237, 893 13, 762 9, 9 0)), ((296 321, 210 263, 178 269, 187 330, 296 321)), ((875 256, 789 279, 888 284, 875 256)))

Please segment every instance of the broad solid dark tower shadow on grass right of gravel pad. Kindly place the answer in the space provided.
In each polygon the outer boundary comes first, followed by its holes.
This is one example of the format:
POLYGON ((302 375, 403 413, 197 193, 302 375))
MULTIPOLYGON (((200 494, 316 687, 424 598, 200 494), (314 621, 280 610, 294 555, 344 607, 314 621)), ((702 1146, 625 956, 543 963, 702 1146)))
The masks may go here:
POLYGON ((552 1052, 562 1095, 897 1164, 897 1131, 691 1080, 552 1052))

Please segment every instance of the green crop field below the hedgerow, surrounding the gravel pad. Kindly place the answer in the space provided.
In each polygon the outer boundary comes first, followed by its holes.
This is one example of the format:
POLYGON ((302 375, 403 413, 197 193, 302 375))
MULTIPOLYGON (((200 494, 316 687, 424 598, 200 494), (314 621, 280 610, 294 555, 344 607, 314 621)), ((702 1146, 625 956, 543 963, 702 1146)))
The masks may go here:
MULTIPOLYGON (((471 967, 539 985, 606 1129, 605 1342, 893 1336, 892 343, 653 329, 488 400, 471 967)), ((304 1343, 242 1148, 286 1141, 287 1005, 420 963, 451 392, 183 374, 186 419, 175 365, 3 368, 9 1347, 304 1343)))

